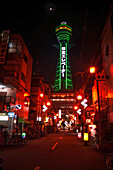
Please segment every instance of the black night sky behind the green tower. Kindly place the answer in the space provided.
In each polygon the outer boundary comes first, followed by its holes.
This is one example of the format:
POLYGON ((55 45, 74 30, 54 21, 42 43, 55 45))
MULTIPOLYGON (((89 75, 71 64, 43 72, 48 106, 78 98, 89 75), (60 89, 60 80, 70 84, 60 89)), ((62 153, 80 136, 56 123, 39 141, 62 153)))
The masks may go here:
POLYGON ((10 29, 11 33, 20 33, 33 57, 33 71, 42 73, 48 83, 54 83, 59 54, 52 46, 57 44, 55 28, 66 21, 72 27, 70 43, 75 44, 69 56, 76 89, 74 74, 87 72, 111 3, 109 0, 4 1, 0 9, 0 32, 10 29), (87 21, 85 41, 80 57, 84 21, 87 21))

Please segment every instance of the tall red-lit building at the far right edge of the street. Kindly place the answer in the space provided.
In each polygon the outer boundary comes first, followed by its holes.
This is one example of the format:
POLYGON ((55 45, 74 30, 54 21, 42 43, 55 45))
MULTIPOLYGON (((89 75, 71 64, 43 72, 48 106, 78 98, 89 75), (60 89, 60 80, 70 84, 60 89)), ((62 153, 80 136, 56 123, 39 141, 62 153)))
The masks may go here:
POLYGON ((106 21, 103 37, 101 42, 102 56, 103 56, 103 68, 105 74, 108 76, 107 83, 107 98, 109 115, 108 121, 113 124, 113 12, 112 9, 108 15, 106 21))

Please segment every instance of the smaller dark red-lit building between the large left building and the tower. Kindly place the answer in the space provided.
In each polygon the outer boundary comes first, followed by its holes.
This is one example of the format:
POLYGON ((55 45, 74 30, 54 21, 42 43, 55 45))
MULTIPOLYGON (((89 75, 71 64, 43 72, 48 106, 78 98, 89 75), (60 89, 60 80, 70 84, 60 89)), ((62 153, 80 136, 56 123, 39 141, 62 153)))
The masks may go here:
POLYGON ((50 87, 44 82, 42 75, 32 76, 31 96, 33 96, 34 99, 31 98, 29 119, 37 122, 41 118, 42 121, 44 121, 47 112, 43 112, 42 114, 41 105, 46 104, 46 102, 50 100, 50 87), (40 94, 44 95, 43 98, 40 97, 40 94))

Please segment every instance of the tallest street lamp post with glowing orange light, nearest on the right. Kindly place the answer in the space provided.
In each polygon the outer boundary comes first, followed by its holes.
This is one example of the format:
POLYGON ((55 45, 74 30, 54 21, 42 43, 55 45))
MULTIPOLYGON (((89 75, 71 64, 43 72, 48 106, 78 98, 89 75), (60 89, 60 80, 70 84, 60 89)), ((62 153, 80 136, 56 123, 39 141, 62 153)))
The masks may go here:
MULTIPOLYGON (((95 74, 96 73, 96 69, 95 67, 90 67, 90 73, 91 74, 95 74)), ((102 128, 101 128, 101 112, 100 112, 100 97, 99 97, 99 83, 98 81, 101 80, 97 80, 97 96, 98 96, 98 114, 99 114, 99 148, 101 148, 102 145, 102 128)))

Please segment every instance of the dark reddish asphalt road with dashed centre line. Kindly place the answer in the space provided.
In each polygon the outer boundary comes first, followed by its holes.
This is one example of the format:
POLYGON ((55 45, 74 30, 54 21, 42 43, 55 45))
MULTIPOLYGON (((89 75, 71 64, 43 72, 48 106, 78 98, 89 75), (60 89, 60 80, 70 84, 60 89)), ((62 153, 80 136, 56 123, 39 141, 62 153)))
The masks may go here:
POLYGON ((104 154, 62 131, 1 149, 3 170, 105 170, 104 154))

